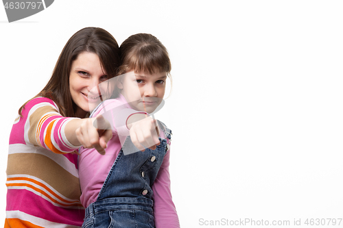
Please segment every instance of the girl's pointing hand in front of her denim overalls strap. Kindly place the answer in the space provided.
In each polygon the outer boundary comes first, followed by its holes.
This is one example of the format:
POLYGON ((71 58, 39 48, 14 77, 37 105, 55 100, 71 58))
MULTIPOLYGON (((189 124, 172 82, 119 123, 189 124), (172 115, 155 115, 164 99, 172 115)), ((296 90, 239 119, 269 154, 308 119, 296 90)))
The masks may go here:
POLYGON ((131 123, 130 136, 134 146, 141 151, 144 151, 145 148, 154 150, 156 145, 160 144, 156 120, 150 116, 131 123))

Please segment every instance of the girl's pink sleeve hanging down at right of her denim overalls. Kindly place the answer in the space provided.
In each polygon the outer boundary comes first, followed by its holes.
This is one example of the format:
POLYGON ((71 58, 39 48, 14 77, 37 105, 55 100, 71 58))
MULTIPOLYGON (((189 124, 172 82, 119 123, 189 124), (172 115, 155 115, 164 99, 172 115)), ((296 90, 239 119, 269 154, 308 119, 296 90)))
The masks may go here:
POLYGON ((154 194, 154 217, 156 228, 180 228, 178 214, 171 199, 170 176, 169 176, 169 155, 167 151, 163 159, 160 170, 152 185, 154 194))

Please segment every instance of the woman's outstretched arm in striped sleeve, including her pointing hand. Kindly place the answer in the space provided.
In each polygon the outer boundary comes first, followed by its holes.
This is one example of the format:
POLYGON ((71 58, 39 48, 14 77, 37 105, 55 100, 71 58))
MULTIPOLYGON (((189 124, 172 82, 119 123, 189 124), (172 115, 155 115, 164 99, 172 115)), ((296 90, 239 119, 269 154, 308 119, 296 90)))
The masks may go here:
POLYGON ((93 126, 94 119, 61 116, 56 103, 45 97, 29 101, 22 110, 21 120, 19 124, 23 124, 26 142, 55 153, 75 151, 80 144, 102 152, 112 137, 112 131, 108 132, 105 127, 105 130, 97 130, 93 126))

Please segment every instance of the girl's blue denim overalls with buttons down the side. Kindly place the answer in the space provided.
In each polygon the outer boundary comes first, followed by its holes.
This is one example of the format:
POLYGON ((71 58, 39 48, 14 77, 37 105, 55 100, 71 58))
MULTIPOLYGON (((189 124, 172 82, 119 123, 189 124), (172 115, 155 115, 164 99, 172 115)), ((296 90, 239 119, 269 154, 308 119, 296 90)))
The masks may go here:
POLYGON ((152 184, 171 140, 170 129, 157 122, 168 140, 159 138, 161 143, 155 150, 145 149, 124 155, 121 149, 97 201, 86 208, 82 228, 155 227, 152 184))

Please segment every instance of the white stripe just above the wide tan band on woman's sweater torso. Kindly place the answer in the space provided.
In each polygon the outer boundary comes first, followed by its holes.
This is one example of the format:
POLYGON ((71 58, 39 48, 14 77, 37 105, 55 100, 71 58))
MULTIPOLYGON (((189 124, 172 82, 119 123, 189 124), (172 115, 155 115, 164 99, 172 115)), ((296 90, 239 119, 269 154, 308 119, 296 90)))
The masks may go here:
POLYGON ((51 160, 56 162, 62 168, 67 170, 71 175, 74 177, 79 177, 78 170, 75 168, 75 164, 70 162, 67 157, 62 154, 54 153, 49 151, 48 149, 44 149, 43 147, 34 147, 33 145, 25 145, 21 143, 17 144, 10 144, 8 146, 8 154, 15 154, 15 153, 38 153, 40 155, 45 155, 49 157, 51 160))

